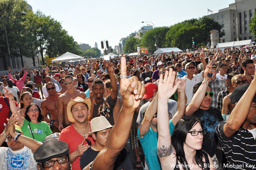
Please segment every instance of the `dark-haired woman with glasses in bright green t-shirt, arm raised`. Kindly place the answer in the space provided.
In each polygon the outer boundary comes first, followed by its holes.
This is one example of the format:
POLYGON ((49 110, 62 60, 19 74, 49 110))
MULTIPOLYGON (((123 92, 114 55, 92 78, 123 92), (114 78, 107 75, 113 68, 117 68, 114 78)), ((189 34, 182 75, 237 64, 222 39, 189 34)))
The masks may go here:
MULTIPOLYGON (((30 103, 26 108, 24 107, 25 118, 23 118, 17 111, 12 92, 6 89, 5 96, 9 97, 11 111, 14 115, 17 115, 17 123, 20 126, 23 135, 42 142, 46 136, 52 134, 52 130, 47 122, 43 121, 44 115, 41 114, 41 109, 38 105, 30 103)), ((26 104, 28 103, 29 102, 26 104)))

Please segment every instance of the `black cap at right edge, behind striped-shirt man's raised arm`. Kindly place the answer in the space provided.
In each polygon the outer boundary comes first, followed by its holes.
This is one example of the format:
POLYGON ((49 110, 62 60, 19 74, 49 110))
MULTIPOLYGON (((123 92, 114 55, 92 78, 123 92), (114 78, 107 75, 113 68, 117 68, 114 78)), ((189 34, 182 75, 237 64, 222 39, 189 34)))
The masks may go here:
MULTIPOLYGON (((230 95, 230 103, 237 103, 240 100, 240 98, 244 95, 245 91, 248 89, 249 86, 249 84, 244 84, 236 87, 236 89, 234 89, 230 95)), ((253 98, 253 102, 256 102, 256 95, 253 98)))

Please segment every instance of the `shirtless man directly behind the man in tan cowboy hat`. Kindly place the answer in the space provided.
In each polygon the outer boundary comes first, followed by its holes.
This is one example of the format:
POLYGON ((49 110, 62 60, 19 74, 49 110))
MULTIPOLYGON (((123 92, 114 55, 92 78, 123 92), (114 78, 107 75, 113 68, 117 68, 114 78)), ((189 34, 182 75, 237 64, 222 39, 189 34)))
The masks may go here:
POLYGON ((64 78, 64 85, 67 87, 67 92, 64 92, 58 97, 58 130, 61 132, 62 129, 68 127, 71 122, 67 118, 67 104, 70 99, 75 99, 76 97, 86 98, 84 92, 74 89, 73 77, 71 75, 66 75, 64 78), (63 115, 64 113, 64 115, 63 115), (64 118, 64 126, 62 125, 64 118))

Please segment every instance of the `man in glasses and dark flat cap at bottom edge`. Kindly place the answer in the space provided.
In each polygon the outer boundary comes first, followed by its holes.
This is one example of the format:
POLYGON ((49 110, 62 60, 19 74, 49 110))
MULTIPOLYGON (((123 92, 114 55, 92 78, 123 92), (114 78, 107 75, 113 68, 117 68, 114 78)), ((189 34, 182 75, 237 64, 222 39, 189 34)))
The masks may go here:
POLYGON ((42 144, 34 153, 39 170, 71 170, 68 144, 52 140, 42 144))

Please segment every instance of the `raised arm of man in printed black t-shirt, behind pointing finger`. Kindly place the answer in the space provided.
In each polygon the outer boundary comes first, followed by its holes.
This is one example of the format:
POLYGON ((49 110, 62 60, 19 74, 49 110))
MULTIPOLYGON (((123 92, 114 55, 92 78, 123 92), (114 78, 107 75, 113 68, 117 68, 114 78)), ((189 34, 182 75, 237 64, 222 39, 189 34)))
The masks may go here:
POLYGON ((113 73, 113 65, 111 64, 111 62, 107 62, 104 60, 104 63, 105 63, 105 66, 106 66, 106 69, 108 71, 108 75, 110 77, 110 84, 111 84, 111 92, 110 92, 110 96, 113 100, 116 100, 116 97, 117 97, 117 93, 118 93, 118 86, 117 86, 117 83, 116 83, 116 79, 115 79, 115 76, 114 76, 114 73, 113 73))

